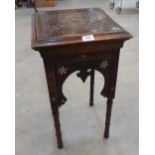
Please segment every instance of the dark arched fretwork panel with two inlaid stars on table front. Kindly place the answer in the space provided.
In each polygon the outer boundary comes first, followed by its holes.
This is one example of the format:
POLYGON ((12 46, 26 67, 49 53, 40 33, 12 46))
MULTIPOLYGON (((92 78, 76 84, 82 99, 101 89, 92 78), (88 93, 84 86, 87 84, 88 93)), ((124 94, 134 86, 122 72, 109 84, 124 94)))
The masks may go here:
MULTIPOLYGON (((90 61, 90 64, 83 64, 85 62, 81 62, 79 65, 77 64, 67 64, 62 63, 57 65, 55 68, 56 72, 56 83, 57 83, 57 92, 58 92, 58 104, 59 106, 63 105, 67 98, 63 94, 63 83, 66 81, 69 75, 78 71, 77 77, 81 78, 83 82, 87 79, 88 76, 93 76, 94 71, 98 71, 103 75, 105 83, 103 83, 103 89, 101 91, 101 95, 108 97, 109 96, 109 87, 111 85, 110 82, 110 71, 111 71, 111 60, 101 59, 96 61, 90 61)), ((92 83, 92 87, 94 84, 92 83)), ((93 88, 92 88, 93 89, 93 88)), ((93 95, 93 94, 90 94, 93 95)))

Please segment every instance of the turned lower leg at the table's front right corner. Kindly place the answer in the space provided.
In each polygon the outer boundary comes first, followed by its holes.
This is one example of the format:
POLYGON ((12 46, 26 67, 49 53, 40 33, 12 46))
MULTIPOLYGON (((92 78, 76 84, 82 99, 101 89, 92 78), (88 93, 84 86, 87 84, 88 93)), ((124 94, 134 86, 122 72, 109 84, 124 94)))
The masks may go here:
POLYGON ((109 137, 112 103, 113 103, 112 99, 108 98, 108 100, 107 100, 106 121, 105 121, 105 130, 104 130, 104 138, 106 138, 106 139, 109 137))

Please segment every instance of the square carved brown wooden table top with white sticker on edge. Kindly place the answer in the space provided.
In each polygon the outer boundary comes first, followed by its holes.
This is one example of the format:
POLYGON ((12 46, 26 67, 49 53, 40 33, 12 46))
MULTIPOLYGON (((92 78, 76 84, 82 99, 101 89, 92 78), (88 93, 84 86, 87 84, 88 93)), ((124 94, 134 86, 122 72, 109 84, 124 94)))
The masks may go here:
POLYGON ((32 17, 32 48, 131 38, 99 8, 54 10, 32 17))

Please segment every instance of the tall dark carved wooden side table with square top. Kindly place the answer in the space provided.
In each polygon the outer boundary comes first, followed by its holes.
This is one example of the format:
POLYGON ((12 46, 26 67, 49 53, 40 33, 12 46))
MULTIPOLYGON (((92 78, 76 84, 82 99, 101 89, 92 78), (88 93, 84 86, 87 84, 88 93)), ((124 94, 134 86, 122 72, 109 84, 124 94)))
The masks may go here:
POLYGON ((120 48, 132 36, 99 8, 38 12, 32 17, 32 49, 45 66, 58 148, 63 147, 59 107, 66 102, 62 85, 74 71, 84 82, 90 76, 90 106, 94 104, 94 75, 99 71, 107 98, 104 137, 109 137, 120 48))

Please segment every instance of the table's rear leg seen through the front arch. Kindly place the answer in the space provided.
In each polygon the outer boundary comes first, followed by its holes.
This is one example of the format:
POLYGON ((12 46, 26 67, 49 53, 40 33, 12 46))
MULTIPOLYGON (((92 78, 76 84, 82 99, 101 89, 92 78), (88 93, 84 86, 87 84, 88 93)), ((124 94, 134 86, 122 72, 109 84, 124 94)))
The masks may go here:
POLYGON ((94 71, 94 69, 91 69, 91 73, 90 73, 90 106, 94 105, 94 76, 95 76, 95 71, 94 71))

